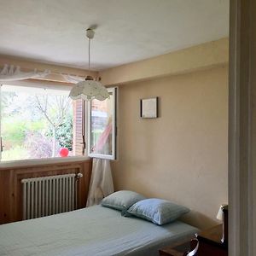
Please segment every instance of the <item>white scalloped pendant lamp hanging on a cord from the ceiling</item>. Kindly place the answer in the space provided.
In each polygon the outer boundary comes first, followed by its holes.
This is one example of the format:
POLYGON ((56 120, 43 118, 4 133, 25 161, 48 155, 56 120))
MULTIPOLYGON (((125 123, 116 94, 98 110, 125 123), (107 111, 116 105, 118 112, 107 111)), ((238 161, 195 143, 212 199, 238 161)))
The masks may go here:
MULTIPOLYGON (((94 38, 94 30, 88 28, 86 30, 86 37, 89 39, 88 47, 88 66, 90 70, 90 40, 94 38)), ((84 101, 91 101, 93 99, 104 101, 109 98, 109 93, 106 87, 100 82, 94 80, 91 76, 86 76, 84 81, 75 84, 70 91, 69 96, 73 100, 83 99, 84 101)))

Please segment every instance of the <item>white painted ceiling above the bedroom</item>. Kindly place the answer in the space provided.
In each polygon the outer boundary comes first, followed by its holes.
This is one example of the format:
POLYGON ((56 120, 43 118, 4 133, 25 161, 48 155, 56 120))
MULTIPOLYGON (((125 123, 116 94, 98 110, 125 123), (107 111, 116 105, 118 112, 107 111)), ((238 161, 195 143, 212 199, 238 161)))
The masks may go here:
POLYGON ((229 0, 0 0, 0 55, 102 70, 227 37, 229 0))

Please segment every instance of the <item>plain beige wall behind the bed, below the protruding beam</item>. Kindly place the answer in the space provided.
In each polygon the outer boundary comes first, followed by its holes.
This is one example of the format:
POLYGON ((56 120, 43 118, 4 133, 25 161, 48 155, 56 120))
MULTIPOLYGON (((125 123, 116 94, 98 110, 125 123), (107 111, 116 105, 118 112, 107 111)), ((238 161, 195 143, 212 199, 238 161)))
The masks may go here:
POLYGON ((115 189, 132 189, 191 208, 206 228, 228 201, 227 65, 119 86, 115 189), (160 118, 141 119, 139 100, 160 97, 160 118))

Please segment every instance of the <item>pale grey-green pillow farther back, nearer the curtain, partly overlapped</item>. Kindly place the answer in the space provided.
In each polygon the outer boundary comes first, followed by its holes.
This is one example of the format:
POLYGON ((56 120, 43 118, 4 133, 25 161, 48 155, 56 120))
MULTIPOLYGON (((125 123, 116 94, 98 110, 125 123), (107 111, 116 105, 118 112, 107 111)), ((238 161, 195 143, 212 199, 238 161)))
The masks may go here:
POLYGON ((102 199, 102 207, 109 207, 119 211, 129 209, 137 201, 146 197, 130 190, 120 190, 102 199))

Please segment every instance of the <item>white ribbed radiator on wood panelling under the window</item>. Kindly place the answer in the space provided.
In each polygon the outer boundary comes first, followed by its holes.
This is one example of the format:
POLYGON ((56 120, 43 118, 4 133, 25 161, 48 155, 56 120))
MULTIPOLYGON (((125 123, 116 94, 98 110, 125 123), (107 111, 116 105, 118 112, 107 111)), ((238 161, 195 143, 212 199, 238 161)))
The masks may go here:
POLYGON ((83 174, 71 173, 22 179, 23 219, 77 209, 79 177, 83 177, 83 174))

